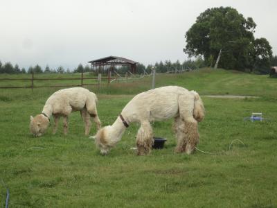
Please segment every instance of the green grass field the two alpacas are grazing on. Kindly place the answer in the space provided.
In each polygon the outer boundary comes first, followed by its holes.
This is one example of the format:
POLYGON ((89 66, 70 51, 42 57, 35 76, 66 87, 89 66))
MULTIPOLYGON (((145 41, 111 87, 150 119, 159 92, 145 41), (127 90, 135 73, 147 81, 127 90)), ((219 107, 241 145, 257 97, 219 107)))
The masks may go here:
MULTIPOLYGON (((6 187, 10 207, 277 207, 277 80, 202 69, 158 75, 157 87, 166 85, 195 89, 202 96, 206 117, 199 123, 198 148, 212 154, 173 153, 171 120, 153 123, 154 134, 168 139, 165 148, 142 157, 130 150, 138 124, 132 123, 103 157, 84 136, 78 112, 69 118, 69 135, 62 135, 60 125, 57 135, 50 128, 33 138, 29 117, 41 112, 57 89, 1 89, 0 207, 6 187), (259 98, 204 96, 219 94, 259 98), (251 112, 269 120, 244 121, 251 112)), ((98 95, 102 125, 113 123, 135 94, 150 87, 149 77, 89 88, 98 95)), ((95 132, 93 125, 91 135, 95 132)))

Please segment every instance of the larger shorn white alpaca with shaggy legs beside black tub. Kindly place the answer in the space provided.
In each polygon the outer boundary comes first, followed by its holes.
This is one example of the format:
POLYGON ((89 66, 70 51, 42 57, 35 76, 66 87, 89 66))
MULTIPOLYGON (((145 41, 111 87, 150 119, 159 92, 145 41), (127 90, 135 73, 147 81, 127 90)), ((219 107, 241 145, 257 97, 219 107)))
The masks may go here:
POLYGON ((106 155, 120 141, 129 123, 139 122, 137 155, 148 155, 153 144, 150 122, 170 118, 175 118, 175 152, 192 153, 199 141, 197 122, 204 119, 204 105, 197 92, 177 86, 159 87, 134 96, 114 124, 98 130, 92 138, 100 153, 106 155))

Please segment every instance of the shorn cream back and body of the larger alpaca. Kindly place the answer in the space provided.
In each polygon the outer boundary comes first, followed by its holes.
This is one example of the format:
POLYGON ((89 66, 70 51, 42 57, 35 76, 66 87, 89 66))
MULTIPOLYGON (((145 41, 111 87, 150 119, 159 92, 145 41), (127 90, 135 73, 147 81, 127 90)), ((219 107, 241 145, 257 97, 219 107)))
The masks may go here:
POLYGON ((127 103, 122 114, 129 118, 129 122, 163 121, 177 116, 181 106, 186 106, 187 112, 195 110, 195 115, 204 118, 204 105, 197 92, 178 86, 159 87, 142 92, 127 103), (199 113, 202 114, 198 115, 199 113))

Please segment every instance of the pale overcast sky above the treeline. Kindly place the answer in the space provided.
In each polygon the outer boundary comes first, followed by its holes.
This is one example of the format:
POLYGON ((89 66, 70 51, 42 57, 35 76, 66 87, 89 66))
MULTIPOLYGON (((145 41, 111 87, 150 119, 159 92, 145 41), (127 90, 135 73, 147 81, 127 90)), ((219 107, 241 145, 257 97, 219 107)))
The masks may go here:
POLYGON ((0 0, 0 60, 73 69, 109 55, 145 65, 186 55, 184 35, 207 8, 231 6, 256 22, 277 54, 277 1, 0 0))

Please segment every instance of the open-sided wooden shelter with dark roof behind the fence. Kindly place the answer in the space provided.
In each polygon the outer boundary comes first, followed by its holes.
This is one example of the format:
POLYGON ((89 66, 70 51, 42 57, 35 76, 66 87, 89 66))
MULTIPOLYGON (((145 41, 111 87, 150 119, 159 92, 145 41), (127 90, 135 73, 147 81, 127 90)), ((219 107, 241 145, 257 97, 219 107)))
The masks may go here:
POLYGON ((129 66, 130 71, 132 73, 136 73, 136 64, 138 64, 138 62, 135 62, 133 60, 129 60, 127 58, 122 58, 114 55, 105 58, 100 58, 97 60, 92 60, 89 61, 89 63, 91 64, 91 71, 93 74, 107 74, 109 73, 109 71, 111 71, 111 73, 114 73, 116 67, 118 66, 129 66))

